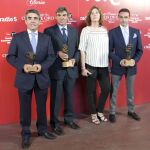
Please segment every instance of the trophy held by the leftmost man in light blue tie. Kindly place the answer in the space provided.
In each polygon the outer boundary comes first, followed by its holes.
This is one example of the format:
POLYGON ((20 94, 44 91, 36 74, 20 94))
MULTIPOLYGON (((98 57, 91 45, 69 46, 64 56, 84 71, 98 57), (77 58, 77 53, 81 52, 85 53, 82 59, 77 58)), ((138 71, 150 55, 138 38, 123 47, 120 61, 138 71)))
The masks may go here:
POLYGON ((29 51, 26 53, 26 58, 27 58, 28 64, 32 65, 32 67, 28 68, 28 72, 29 73, 36 73, 38 68, 36 66, 33 66, 36 55, 33 52, 29 51))

